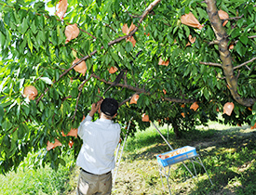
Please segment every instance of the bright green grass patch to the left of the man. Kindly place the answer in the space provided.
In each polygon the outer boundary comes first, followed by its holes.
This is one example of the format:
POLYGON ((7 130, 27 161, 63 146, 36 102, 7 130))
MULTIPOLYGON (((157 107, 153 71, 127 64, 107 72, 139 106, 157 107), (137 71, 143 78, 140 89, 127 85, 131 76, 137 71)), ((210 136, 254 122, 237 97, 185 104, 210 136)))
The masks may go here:
POLYGON ((26 160, 20 164, 17 172, 9 172, 7 176, 0 175, 1 195, 57 195, 65 194, 72 189, 69 178, 72 173, 74 162, 71 156, 65 159, 66 166, 60 166, 56 172, 46 165, 38 169, 31 167, 30 161, 36 154, 30 154, 26 160))

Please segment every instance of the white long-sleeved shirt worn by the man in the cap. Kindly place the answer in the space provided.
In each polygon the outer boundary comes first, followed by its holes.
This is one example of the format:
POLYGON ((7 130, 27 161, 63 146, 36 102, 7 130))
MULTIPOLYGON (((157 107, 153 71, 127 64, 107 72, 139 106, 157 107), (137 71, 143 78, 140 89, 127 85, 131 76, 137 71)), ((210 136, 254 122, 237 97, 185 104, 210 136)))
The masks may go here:
POLYGON ((101 175, 115 168, 115 148, 120 139, 118 123, 107 119, 91 122, 91 117, 80 123, 78 136, 83 139, 76 165, 89 173, 101 175))

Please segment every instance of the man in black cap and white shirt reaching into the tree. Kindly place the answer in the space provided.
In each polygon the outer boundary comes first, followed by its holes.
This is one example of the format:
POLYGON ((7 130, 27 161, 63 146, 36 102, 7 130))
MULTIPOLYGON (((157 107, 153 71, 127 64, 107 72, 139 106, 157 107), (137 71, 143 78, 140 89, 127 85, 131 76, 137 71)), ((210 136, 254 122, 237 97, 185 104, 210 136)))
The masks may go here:
POLYGON ((78 195, 111 194, 111 170, 115 168, 115 148, 121 132, 120 125, 112 121, 117 110, 117 101, 105 98, 92 104, 88 116, 78 127, 78 136, 83 139, 76 161, 81 167, 76 193, 78 195), (99 108, 100 119, 91 122, 99 108))

